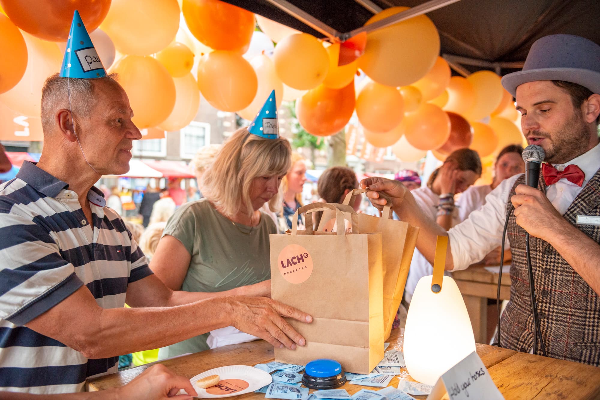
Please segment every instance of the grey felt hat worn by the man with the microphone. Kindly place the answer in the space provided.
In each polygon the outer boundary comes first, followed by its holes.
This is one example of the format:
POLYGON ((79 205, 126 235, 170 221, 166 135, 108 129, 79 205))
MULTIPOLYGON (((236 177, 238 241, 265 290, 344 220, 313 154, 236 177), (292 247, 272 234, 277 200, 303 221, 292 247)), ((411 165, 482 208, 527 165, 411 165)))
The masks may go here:
POLYGON ((580 84, 600 93, 600 46, 575 35, 550 35, 539 38, 527 54, 523 69, 502 78, 511 95, 527 82, 560 80, 580 84))

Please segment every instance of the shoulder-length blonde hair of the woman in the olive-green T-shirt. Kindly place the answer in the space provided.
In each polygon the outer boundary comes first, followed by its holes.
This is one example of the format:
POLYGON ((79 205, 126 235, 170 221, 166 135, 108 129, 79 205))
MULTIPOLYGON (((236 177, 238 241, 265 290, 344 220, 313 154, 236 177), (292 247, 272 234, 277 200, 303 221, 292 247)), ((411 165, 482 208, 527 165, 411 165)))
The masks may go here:
MULTIPOLYGON (((203 175, 202 194, 227 217, 254 210, 250 201, 252 180, 261 176, 284 175, 290 168, 292 148, 287 139, 266 139, 238 129, 223 145, 211 168, 203 175)), ((279 196, 269 201, 269 209, 279 207, 279 196)))

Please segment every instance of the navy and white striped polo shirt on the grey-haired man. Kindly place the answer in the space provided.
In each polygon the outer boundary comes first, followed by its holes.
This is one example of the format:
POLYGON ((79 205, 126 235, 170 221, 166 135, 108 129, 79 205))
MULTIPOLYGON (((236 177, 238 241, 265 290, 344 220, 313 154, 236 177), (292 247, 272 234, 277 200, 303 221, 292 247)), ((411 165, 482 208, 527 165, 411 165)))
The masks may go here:
POLYGON ((82 285, 100 307, 123 307, 127 285, 152 274, 100 190, 88 200, 91 224, 77 193, 29 162, 0 185, 0 390, 77 392, 117 369, 119 354, 87 359, 24 326, 82 285))

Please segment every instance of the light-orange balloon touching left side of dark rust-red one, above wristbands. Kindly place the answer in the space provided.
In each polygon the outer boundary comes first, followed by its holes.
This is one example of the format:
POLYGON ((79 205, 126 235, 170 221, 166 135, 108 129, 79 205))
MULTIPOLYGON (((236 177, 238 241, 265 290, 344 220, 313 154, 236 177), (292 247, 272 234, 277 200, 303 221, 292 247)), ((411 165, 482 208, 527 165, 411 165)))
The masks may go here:
POLYGON ((423 104, 414 113, 407 113, 404 123, 404 136, 416 149, 437 149, 450 137, 450 118, 437 105, 423 104))

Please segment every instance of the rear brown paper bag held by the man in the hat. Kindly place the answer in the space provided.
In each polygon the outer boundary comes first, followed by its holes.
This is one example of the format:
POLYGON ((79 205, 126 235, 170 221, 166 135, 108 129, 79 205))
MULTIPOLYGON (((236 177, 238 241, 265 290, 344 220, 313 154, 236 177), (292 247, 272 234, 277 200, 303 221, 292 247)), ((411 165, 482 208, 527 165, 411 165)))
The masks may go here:
MULTIPOLYGON (((366 189, 354 189, 344 198, 344 205, 354 204, 355 196, 366 192, 366 189)), ((335 214, 332 211, 323 213, 319 223, 319 231, 331 230, 335 214)), ((394 220, 392 208, 383 207, 382 217, 357 214, 358 229, 362 233, 380 232, 383 249, 383 332, 389 338, 392 332, 394 317, 400 307, 404 285, 409 275, 410 260, 416 246, 419 228, 409 223, 394 220)))

